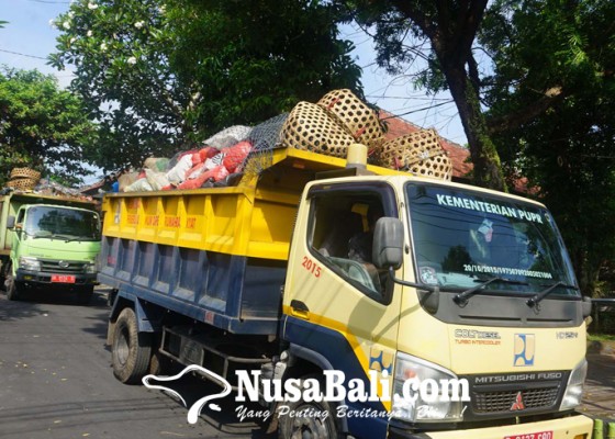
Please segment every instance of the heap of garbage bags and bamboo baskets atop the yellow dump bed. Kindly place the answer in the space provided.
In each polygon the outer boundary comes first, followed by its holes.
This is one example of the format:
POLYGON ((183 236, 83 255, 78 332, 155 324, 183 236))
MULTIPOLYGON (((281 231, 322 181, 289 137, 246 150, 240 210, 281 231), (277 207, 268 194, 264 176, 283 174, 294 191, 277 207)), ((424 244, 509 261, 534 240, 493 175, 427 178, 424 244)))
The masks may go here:
POLYGON ((166 191, 236 184, 244 172, 259 173, 279 147, 346 157, 353 143, 362 143, 370 162, 450 180, 452 166, 433 130, 385 140, 378 113, 350 90, 333 90, 317 103, 299 102, 255 127, 232 126, 204 140, 201 148, 172 158, 148 158, 139 172, 121 176, 120 192, 166 191), (260 155, 260 160, 254 156, 260 155), (251 159, 251 160, 248 160, 251 159), (246 167, 251 169, 246 169, 246 167))

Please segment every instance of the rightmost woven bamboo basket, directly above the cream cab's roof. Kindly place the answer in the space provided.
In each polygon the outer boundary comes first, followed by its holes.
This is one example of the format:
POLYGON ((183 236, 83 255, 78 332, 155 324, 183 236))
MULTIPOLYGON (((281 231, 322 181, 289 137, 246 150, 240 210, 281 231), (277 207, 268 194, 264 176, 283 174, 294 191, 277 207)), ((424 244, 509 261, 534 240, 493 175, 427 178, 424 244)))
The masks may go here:
POLYGON ((378 149, 381 166, 451 180, 452 162, 435 130, 422 130, 384 142, 378 149))

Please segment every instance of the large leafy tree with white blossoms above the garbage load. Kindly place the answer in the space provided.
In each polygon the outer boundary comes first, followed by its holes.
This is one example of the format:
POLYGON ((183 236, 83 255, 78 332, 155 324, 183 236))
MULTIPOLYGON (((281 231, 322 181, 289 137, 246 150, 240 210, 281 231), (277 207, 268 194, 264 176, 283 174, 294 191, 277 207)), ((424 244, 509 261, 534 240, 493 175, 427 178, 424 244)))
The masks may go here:
POLYGON ((308 0, 92 0, 57 20, 52 64, 101 124, 108 170, 172 155, 230 125, 255 124, 331 88, 360 93, 337 37, 342 11, 308 0))

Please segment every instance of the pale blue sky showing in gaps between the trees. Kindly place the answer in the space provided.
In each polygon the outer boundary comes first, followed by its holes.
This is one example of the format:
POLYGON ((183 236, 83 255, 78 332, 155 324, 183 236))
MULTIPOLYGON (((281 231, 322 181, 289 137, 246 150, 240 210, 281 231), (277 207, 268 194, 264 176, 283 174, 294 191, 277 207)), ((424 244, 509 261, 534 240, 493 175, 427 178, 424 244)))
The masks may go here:
MULTIPOLYGON (((59 32, 49 21, 68 10, 68 0, 0 0, 0 65, 19 69, 38 69, 58 78, 67 87, 72 77, 69 70, 57 71, 46 65, 46 57, 55 52, 59 32)), ((362 31, 345 26, 342 36, 354 41, 357 64, 362 68, 364 92, 370 103, 424 128, 436 128, 455 143, 463 145, 466 135, 450 95, 426 95, 403 78, 393 78, 374 66, 370 37, 362 31), (436 106, 434 106, 436 105, 436 106)))

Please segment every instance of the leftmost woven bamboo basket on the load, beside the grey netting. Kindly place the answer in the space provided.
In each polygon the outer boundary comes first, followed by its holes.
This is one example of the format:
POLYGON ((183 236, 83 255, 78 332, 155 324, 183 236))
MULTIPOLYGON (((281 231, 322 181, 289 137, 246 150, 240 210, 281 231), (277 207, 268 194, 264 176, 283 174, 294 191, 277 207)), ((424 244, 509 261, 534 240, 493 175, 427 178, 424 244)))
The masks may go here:
POLYGON ((288 147, 340 158, 356 142, 324 109, 303 101, 290 112, 280 136, 288 147))

